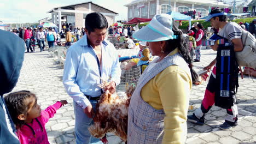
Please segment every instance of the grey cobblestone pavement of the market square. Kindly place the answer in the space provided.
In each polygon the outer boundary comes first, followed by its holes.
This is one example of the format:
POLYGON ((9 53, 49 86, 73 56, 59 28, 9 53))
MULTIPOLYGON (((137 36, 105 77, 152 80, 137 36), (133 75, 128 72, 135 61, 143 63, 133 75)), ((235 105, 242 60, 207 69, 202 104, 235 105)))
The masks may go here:
MULTIPOLYGON (((201 62, 195 63, 195 68, 206 66, 215 56, 216 52, 212 50, 202 50, 201 62)), ((46 130, 50 143, 75 143, 73 103, 62 85, 62 73, 63 67, 55 58, 50 57, 48 52, 25 53, 19 82, 13 91, 26 89, 36 93, 42 109, 57 100, 66 99, 68 104, 61 107, 50 119, 46 124, 46 130)), ((220 130, 218 127, 224 122, 226 111, 213 106, 206 115, 205 125, 188 122, 187 143, 256 143, 256 83, 245 76, 243 80, 239 79, 239 84, 238 125, 231 130, 220 130)), ((194 110, 201 105, 206 85, 207 82, 193 86, 190 105, 194 106, 194 110)), ((194 110, 189 110, 189 114, 194 110)), ((110 144, 123 143, 117 136, 108 136, 110 144)))

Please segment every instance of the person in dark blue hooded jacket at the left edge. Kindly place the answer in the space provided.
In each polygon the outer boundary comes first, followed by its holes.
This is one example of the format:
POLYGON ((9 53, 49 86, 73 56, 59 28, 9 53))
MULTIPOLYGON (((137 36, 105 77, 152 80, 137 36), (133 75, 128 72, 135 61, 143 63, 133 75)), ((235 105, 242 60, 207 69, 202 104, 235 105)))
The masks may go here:
POLYGON ((4 103, 3 94, 9 93, 18 82, 24 60, 24 40, 0 29, 0 143, 20 143, 16 129, 4 103))

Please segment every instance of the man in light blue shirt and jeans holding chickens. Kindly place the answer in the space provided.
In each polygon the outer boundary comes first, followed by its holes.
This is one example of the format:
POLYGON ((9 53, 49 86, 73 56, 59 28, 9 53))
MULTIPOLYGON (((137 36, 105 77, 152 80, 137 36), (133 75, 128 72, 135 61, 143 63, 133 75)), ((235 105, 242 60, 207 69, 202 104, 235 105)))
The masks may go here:
POLYGON ((76 143, 102 143, 91 136, 88 127, 103 91, 113 93, 120 83, 118 53, 113 44, 104 41, 107 27, 102 14, 86 15, 86 35, 67 51, 63 84, 74 100, 76 143), (110 82, 106 89, 98 87, 102 80, 110 82))

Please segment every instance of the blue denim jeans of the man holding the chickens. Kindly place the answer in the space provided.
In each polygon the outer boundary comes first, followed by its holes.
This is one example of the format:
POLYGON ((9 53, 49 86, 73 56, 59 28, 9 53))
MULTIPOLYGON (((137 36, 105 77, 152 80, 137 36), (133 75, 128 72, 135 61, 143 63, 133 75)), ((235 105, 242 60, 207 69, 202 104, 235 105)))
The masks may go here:
MULTIPOLYGON (((96 111, 96 100, 90 100, 92 108, 96 111)), ((74 115, 75 115, 75 143, 77 144, 103 144, 100 139, 97 139, 94 136, 91 136, 88 127, 92 125, 94 122, 92 118, 89 118, 85 113, 84 109, 73 102, 74 104, 74 115)))

